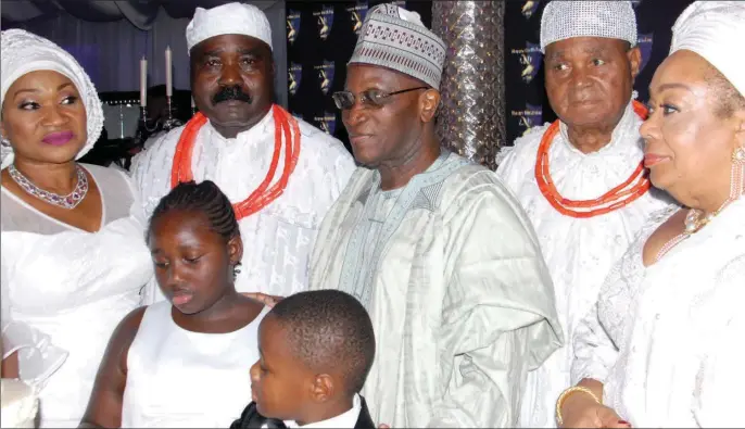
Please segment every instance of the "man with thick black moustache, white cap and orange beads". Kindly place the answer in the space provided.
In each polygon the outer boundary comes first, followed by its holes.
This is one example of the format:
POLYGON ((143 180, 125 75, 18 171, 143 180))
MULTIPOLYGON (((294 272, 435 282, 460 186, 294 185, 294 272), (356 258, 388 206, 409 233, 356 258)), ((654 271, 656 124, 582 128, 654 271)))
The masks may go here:
MULTIPOLYGON (((216 182, 233 203, 244 251, 240 292, 307 287, 320 220, 354 169, 343 144, 274 104, 272 31, 251 4, 197 8, 186 30, 200 110, 135 162, 144 212, 178 182, 216 182)), ((154 299, 163 295, 149 288, 154 299)))

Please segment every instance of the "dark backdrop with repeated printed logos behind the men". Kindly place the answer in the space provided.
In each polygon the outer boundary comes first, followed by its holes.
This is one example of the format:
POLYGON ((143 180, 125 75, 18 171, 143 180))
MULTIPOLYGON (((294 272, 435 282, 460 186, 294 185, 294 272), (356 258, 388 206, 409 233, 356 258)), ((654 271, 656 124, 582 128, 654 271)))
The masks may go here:
MULTIPOLYGON (((290 111, 298 117, 333 135, 348 144, 348 136, 341 123, 341 113, 333 104, 331 93, 343 89, 346 78, 346 62, 352 56, 354 45, 357 40, 357 31, 362 26, 363 20, 368 8, 382 3, 383 1, 356 1, 356 2, 287 2, 287 65, 288 65, 288 93, 290 111)), ((408 10, 416 11, 421 15, 424 24, 432 28, 432 1, 395 1, 408 10)), ((465 3, 465 2, 464 2, 465 3)), ((475 2, 477 4, 485 2, 475 2)), ((502 2, 500 2, 502 3, 502 2)), ((642 51, 642 70, 635 81, 635 89, 639 91, 639 100, 646 101, 648 98, 648 85, 652 80, 655 68, 667 56, 670 49, 671 28, 680 13, 692 3, 691 0, 668 0, 654 1, 641 0, 633 1, 636 11, 636 22, 639 27, 639 47, 642 51)), ((496 146, 510 146, 516 138, 520 137, 532 126, 552 122, 556 115, 551 110, 548 100, 545 96, 543 79, 543 58, 539 46, 541 28, 541 14, 545 8, 545 0, 520 0, 506 1, 500 4, 504 13, 504 45, 502 55, 500 55, 498 38, 496 36, 489 40, 494 40, 493 54, 501 60, 497 71, 503 75, 503 83, 497 83, 492 91, 494 94, 495 111, 497 112, 495 123, 490 133, 495 134, 500 140, 492 147, 481 146, 481 143, 450 142, 455 148, 464 148, 464 154, 473 160, 490 165, 487 157, 496 146), (503 86, 504 97, 500 99, 498 86, 503 86), (501 125, 505 124, 505 125, 501 125), (500 136, 500 129, 505 129, 500 136), (464 147, 468 146, 468 149, 464 147), (478 148, 478 149, 477 149, 478 148), (472 156, 471 156, 472 152, 472 156)), ((483 8, 484 5, 481 4, 483 8)), ((443 9, 443 5, 439 5, 443 9)), ((465 5, 463 7, 465 8, 465 5)), ((451 7, 452 9, 452 7, 451 7)), ((492 11, 492 9, 489 9, 492 11)), ((494 9, 497 12, 498 9, 494 9)), ((496 13, 494 13, 496 15, 496 13)), ((438 16, 443 21, 445 16, 438 16)), ((458 25, 478 27, 481 21, 471 20, 471 24, 459 23, 458 25)), ((453 21, 458 23, 457 21, 453 21)), ((435 23, 438 24, 438 23, 435 23)), ((442 23, 440 23, 442 24, 442 23)), ((468 27, 468 28, 470 28, 468 27)), ((493 31, 496 35, 497 31, 493 31)), ((472 34, 472 31, 468 33, 472 34)), ((489 33, 488 35, 491 35, 489 33)), ((482 34, 481 37, 488 36, 482 34)), ((447 40, 446 40, 447 41, 447 40)), ((445 68, 453 73, 460 67, 468 70, 468 64, 456 64, 453 61, 467 61, 464 55, 456 55, 458 43, 453 42, 449 46, 445 68)), ((482 53, 489 47, 484 46, 482 53)), ((485 58, 485 56, 484 56, 485 58)), ((475 73, 494 73, 491 64, 489 67, 473 70, 475 73)), ((445 73, 447 75, 447 72, 445 73)), ((489 76, 471 76, 473 83, 489 81, 494 85, 494 79, 489 76)), ((278 78, 280 78, 278 76, 278 78)), ((444 97, 454 98, 443 100, 443 105, 457 105, 462 93, 456 90, 449 90, 443 79, 444 97)), ((490 88, 479 89, 487 93, 490 88)), ((476 100, 476 110, 488 110, 492 108, 487 101, 476 100)), ((473 111, 472 108, 471 111, 473 111)), ((454 115, 443 116, 439 121, 457 121, 454 115)), ((453 125, 453 124, 450 124, 453 125)), ((449 126, 449 124, 443 124, 449 126)), ((456 136, 457 134, 453 135, 456 136)), ((449 137, 452 140, 455 137, 449 137)), ((479 139, 489 139, 478 135, 479 139)), ((491 140, 490 140, 491 141, 491 140)), ((487 144, 484 142, 483 144, 487 144)))

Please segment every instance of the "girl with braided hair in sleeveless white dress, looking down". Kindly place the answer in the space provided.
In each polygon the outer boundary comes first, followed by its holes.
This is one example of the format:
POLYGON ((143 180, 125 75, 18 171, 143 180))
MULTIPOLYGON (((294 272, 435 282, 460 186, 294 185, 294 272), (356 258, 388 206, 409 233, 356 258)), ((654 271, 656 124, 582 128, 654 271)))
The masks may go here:
POLYGON ((236 292, 243 243, 232 205, 212 181, 180 184, 155 207, 148 244, 168 301, 116 328, 81 426, 227 428, 250 402, 269 310, 236 292))

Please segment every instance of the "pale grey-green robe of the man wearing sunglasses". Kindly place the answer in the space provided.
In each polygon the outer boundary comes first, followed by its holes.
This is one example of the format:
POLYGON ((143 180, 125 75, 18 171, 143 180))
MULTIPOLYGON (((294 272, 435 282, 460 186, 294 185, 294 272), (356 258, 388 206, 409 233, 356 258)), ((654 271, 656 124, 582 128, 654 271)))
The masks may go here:
POLYGON ((346 291, 370 312, 363 395, 392 427, 514 427, 526 373, 561 344, 519 203, 447 152, 392 191, 357 168, 321 225, 311 288, 346 291))

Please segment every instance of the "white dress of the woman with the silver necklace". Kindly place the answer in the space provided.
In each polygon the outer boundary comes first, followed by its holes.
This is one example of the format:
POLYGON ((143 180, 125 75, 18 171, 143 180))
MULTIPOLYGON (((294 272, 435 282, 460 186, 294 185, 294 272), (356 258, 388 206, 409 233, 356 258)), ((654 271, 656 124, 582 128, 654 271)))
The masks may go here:
POLYGON ((3 357, 18 351, 21 378, 40 391, 41 427, 78 425, 111 333, 139 306, 152 276, 128 178, 85 168, 101 190, 98 232, 49 217, 5 188, 0 193, 3 357))

